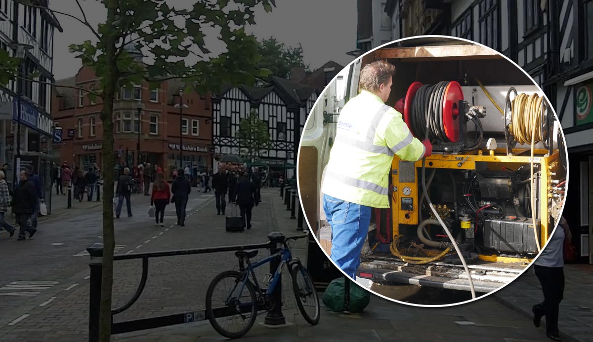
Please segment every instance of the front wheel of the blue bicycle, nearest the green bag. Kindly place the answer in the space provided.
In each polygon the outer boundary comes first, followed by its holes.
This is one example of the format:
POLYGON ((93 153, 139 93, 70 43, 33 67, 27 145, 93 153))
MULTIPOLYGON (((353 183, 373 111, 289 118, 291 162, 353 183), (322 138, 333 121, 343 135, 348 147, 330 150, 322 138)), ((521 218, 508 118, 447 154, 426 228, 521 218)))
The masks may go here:
POLYGON ((295 293, 298 309, 309 324, 316 325, 319 322, 320 308, 313 278, 301 264, 292 269, 291 275, 292 291, 295 293))

